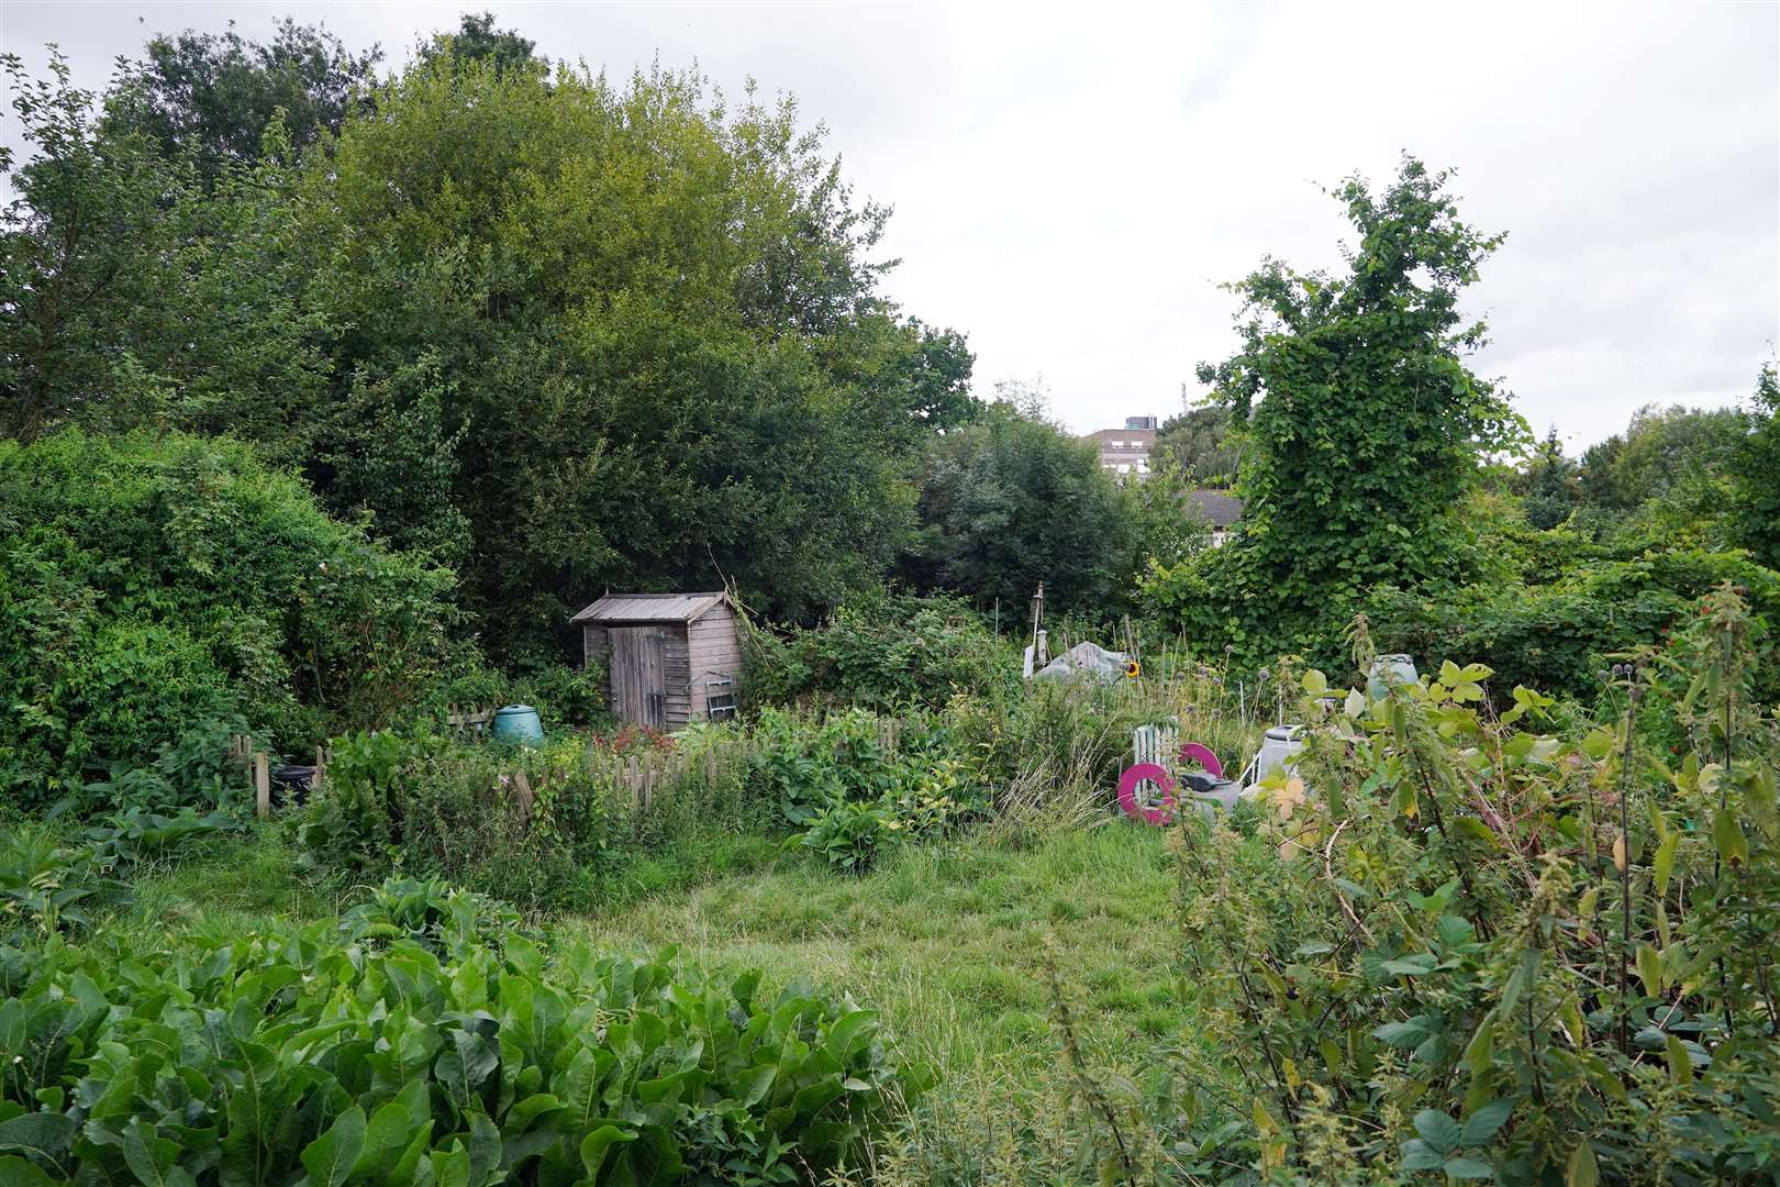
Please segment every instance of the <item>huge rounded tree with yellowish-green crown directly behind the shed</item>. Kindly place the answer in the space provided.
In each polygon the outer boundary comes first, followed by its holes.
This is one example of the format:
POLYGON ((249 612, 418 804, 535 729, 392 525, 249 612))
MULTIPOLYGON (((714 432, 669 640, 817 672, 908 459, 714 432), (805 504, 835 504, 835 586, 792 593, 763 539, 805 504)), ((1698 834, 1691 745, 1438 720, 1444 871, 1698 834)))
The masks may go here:
POLYGON ((878 295, 886 212, 789 103, 440 55, 295 208, 344 327, 310 473, 449 539, 376 473, 392 440, 420 450, 468 529, 466 596, 513 646, 607 585, 833 605, 899 552, 922 440, 968 413, 968 351, 878 295))

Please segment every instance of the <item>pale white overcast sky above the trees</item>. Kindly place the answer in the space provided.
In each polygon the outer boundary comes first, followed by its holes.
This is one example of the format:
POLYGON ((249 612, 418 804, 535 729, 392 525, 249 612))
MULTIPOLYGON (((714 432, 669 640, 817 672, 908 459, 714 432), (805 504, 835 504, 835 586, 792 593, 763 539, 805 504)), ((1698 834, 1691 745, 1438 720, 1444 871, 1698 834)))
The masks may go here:
MULTIPOLYGON (((890 294, 954 326, 977 390, 1043 375, 1080 431, 1168 416, 1228 352, 1219 283, 1337 267, 1319 185, 1456 167, 1509 231, 1474 290, 1501 375, 1572 450, 1648 402, 1734 404, 1780 338, 1780 5, 112 4, 0 0, 100 87, 150 32, 326 21, 400 62, 491 9, 550 59, 659 57, 790 91, 895 208, 890 294)), ((7 112, 11 117, 11 112, 7 112)), ((9 123, 7 142, 16 142, 9 123)))

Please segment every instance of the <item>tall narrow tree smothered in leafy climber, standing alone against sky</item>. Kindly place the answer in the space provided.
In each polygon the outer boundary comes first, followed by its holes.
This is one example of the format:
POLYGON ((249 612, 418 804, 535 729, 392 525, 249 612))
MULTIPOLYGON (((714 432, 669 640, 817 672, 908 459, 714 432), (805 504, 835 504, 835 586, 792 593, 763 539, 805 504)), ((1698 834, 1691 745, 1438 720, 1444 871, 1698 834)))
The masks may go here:
POLYGON ((1278 260, 1232 288, 1241 347, 1200 379, 1246 420, 1241 534, 1148 582, 1203 641, 1333 650, 1365 591, 1461 577, 1452 521, 1479 457, 1525 425, 1465 365, 1485 340, 1460 294, 1501 244, 1460 219, 1447 173, 1404 158, 1333 196, 1358 242, 1340 274, 1278 260))

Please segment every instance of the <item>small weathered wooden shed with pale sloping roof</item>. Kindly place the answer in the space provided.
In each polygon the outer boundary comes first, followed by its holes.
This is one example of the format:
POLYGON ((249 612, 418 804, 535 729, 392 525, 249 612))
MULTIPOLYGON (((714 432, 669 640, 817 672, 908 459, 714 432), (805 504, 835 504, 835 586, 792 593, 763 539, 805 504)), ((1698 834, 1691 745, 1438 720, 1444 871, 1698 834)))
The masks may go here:
POLYGON ((621 721, 678 730, 735 715, 740 618, 730 594, 605 594, 570 619, 582 662, 605 664, 605 703, 621 721))

